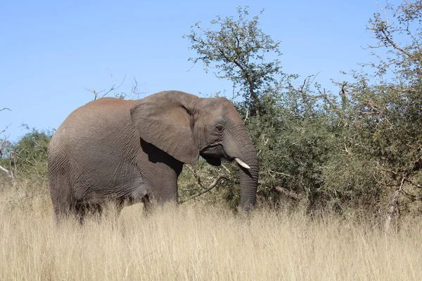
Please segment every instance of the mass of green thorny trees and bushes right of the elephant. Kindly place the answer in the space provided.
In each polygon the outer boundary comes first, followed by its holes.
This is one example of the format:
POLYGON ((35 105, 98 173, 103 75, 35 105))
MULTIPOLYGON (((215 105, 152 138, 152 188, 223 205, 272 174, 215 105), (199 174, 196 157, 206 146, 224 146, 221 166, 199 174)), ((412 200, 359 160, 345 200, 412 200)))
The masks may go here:
MULTIPOLYGON (((198 54, 190 60, 241 85, 234 103, 260 157, 258 191, 265 202, 276 206, 290 198, 306 202, 309 211, 380 218, 421 213, 421 3, 387 6, 385 20, 374 14, 367 27, 378 41, 372 50, 387 53, 366 65, 373 75, 352 72, 338 93, 321 89, 315 77, 300 83, 282 73, 279 43, 258 28, 258 16, 249 19, 247 8, 238 8, 237 19, 217 17, 212 28, 198 22, 185 35, 198 54), (399 46, 397 38, 409 43, 399 46), (266 60, 266 53, 276 55, 266 60)), ((222 173, 235 175, 234 165, 226 166, 222 173)), ((233 182, 221 189, 236 194, 233 182)))

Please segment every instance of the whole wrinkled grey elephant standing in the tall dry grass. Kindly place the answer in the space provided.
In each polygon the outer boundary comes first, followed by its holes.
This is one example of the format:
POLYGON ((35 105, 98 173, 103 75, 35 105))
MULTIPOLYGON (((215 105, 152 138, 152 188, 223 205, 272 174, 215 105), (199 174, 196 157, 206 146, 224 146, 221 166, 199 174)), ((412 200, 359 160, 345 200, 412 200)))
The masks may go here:
POLYGON ((202 156, 241 159, 241 209, 255 204, 258 161, 245 124, 226 98, 163 91, 141 100, 101 98, 72 112, 49 145, 49 181, 56 220, 82 222, 106 202, 177 202, 183 164, 202 156))

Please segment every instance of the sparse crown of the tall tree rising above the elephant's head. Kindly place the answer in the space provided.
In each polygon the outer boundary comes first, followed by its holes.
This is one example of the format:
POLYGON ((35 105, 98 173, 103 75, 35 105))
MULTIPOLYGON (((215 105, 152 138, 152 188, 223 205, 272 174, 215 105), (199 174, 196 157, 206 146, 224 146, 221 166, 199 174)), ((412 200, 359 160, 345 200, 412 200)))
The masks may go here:
POLYGON ((214 29, 204 29, 200 22, 196 22, 191 27, 191 33, 184 38, 198 53, 189 60, 193 64, 201 60, 205 70, 215 68, 217 77, 230 79, 240 86, 243 98, 248 100, 248 115, 259 116, 264 88, 276 84, 274 76, 281 72, 279 60, 266 62, 265 55, 281 55, 280 43, 262 32, 258 15, 249 19, 247 6, 238 7, 237 12, 236 20, 217 16, 210 22, 214 29))

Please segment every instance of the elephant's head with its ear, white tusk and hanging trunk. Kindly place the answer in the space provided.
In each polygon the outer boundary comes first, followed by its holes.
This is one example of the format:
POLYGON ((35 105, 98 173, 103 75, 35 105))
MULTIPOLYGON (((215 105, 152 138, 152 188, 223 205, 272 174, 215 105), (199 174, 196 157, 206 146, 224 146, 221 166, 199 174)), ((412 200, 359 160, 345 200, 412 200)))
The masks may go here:
POLYGON ((258 160, 243 120, 226 98, 198 98, 163 91, 139 100, 131 110, 139 135, 147 143, 186 164, 203 157, 219 166, 236 160, 241 179, 241 207, 255 205, 258 160))

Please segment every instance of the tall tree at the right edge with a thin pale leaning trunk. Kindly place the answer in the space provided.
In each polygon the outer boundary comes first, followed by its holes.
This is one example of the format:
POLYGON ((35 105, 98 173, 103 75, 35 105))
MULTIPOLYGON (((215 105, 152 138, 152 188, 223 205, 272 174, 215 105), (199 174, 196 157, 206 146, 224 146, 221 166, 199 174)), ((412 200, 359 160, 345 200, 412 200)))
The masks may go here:
POLYGON ((400 204, 422 199, 422 1, 403 1, 397 8, 389 4, 381 10, 384 18, 375 13, 367 28, 378 42, 369 48, 387 51, 385 59, 372 65, 384 81, 373 86, 374 93, 359 98, 365 99, 363 110, 372 117, 368 123, 379 146, 383 184, 394 186, 385 217, 388 231, 400 204), (385 81, 388 74, 390 83, 385 81))

